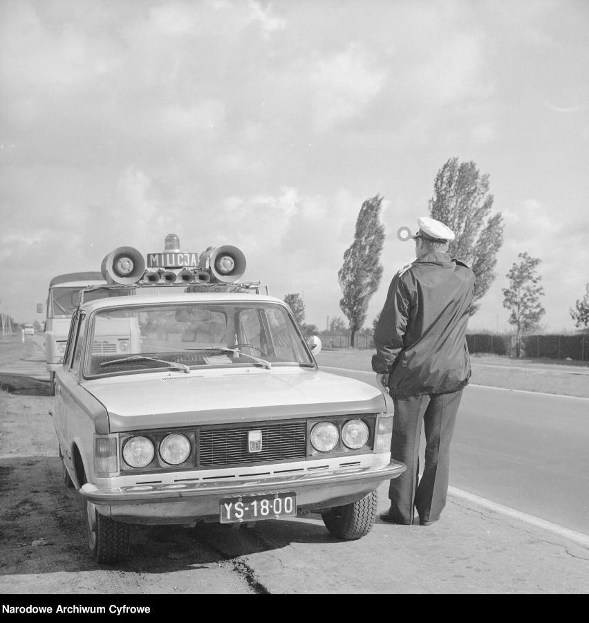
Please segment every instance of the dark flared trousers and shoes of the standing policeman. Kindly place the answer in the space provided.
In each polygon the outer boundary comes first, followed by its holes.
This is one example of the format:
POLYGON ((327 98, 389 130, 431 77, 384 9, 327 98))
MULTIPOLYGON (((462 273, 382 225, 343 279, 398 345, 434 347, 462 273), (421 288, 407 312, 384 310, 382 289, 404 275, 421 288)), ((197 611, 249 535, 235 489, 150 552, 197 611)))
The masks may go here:
POLYGON ((389 498, 391 515, 397 523, 413 523, 413 506, 420 521, 435 521, 446 505, 450 442, 454 433, 456 411, 462 398, 462 389, 453 393, 431 396, 395 398, 391 458, 402 461, 406 472, 391 480, 389 498), (423 416, 424 399, 429 404, 423 416), (419 443, 421 422, 425 430, 425 465, 419 479, 419 443))

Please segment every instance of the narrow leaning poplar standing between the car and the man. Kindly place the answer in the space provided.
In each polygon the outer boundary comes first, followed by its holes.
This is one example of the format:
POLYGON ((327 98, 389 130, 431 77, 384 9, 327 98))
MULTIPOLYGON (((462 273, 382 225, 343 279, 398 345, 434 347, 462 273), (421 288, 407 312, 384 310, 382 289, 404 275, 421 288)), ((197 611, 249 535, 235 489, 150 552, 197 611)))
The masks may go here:
POLYGON ((384 243, 384 225, 380 222, 382 197, 376 195, 362 203, 356 221, 352 245, 344 253, 344 265, 337 277, 344 297, 339 306, 350 322, 350 346, 366 320, 368 301, 382 277, 380 254, 384 243))

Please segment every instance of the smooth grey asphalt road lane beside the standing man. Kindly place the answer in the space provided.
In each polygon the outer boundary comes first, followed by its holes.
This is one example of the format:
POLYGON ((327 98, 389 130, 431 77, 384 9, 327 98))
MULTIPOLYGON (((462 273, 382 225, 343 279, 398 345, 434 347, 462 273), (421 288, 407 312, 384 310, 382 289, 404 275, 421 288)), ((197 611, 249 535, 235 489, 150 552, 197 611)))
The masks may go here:
MULTIPOLYGON (((338 371, 374 382, 373 373, 338 371)), ((421 465, 424 445, 422 436, 421 465)), ((450 484, 589 535, 588 448, 588 399, 469 385, 456 420, 450 484)))

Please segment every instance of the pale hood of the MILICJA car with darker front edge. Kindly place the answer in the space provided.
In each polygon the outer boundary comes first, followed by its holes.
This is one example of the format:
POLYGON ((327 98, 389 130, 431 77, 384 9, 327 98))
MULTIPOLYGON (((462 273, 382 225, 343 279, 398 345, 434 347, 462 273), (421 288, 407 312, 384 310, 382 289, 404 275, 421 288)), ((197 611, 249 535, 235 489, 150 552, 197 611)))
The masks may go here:
POLYGON ((91 380, 84 388, 102 402, 109 429, 186 427, 301 416, 391 411, 379 389, 312 369, 207 370, 91 380))

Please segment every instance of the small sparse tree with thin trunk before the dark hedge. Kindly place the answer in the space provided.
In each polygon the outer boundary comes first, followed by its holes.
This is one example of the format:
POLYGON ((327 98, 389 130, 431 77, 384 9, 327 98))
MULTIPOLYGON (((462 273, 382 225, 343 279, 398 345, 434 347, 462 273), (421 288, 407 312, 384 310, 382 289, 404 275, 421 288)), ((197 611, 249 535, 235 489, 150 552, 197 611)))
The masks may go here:
POLYGON ((503 288, 503 307, 509 309, 509 324, 516 327, 516 355, 520 355, 522 333, 529 332, 544 315, 545 309, 540 304, 544 288, 538 285, 542 277, 536 274, 536 267, 541 262, 537 257, 530 257, 527 252, 520 253, 520 263, 514 263, 507 273, 509 288, 503 288))

